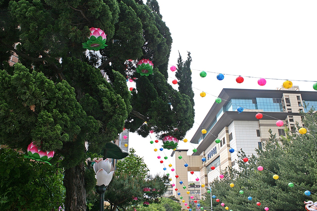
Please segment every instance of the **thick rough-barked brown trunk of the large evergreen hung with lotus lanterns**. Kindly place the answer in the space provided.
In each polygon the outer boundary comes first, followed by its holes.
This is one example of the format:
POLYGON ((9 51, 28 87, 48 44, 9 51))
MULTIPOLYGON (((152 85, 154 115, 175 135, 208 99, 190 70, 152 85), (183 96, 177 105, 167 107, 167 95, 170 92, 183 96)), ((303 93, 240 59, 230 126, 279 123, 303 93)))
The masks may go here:
POLYGON ((64 186, 66 188, 65 211, 86 211, 84 163, 65 170, 64 186))

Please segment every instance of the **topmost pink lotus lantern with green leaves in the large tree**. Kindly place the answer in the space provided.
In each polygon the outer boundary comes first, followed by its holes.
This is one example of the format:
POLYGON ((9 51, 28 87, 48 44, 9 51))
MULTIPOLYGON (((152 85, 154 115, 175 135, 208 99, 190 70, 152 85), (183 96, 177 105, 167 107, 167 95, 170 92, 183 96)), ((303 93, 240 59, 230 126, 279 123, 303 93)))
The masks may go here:
POLYGON ((105 44, 107 40, 106 33, 100 28, 97 29, 91 27, 89 30, 90 35, 88 36, 88 41, 81 43, 83 45, 83 48, 94 51, 99 51, 100 49, 105 48, 105 46, 107 46, 105 44))

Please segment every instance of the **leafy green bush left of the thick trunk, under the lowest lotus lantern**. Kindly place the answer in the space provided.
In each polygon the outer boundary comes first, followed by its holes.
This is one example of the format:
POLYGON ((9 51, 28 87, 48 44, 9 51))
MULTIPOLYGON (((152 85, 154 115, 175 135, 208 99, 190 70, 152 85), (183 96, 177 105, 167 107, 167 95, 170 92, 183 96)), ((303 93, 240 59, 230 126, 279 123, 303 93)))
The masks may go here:
POLYGON ((0 209, 57 210, 65 197, 61 172, 45 163, 23 159, 18 151, 0 149, 0 209))

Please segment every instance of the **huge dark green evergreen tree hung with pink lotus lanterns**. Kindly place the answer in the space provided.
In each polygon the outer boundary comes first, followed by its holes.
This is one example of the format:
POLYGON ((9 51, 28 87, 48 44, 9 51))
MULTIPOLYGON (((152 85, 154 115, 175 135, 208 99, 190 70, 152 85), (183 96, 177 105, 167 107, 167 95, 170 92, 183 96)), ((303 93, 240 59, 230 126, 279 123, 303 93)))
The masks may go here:
POLYGON ((157 2, 147 4, 152 10, 139 0, 0 1, 0 144, 55 150, 67 211, 86 210, 85 141, 99 153, 124 126, 181 139, 193 125, 193 96, 167 83, 171 33, 157 2), (91 27, 107 34, 101 56, 82 48, 91 27), (13 53, 19 63, 10 67, 13 53), (142 58, 153 75, 136 73, 142 58), (132 94, 127 78, 136 81, 132 94))

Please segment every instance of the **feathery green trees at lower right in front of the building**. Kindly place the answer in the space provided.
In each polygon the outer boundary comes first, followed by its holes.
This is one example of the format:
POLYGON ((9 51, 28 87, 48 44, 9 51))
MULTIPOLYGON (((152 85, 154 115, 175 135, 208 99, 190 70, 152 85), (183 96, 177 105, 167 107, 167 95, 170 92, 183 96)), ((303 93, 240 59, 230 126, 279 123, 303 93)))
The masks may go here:
MULTIPOLYGON (((317 191, 317 114, 311 111, 301 115, 305 117, 302 121, 308 128, 307 134, 286 130, 288 135, 281 137, 281 142, 271 134, 263 150, 258 149, 257 156, 250 157, 248 163, 242 161, 244 154, 241 152, 238 161, 241 171, 228 169, 223 172, 222 180, 216 179, 210 184, 212 195, 220 199, 219 203, 213 200, 214 210, 223 210, 220 205, 223 202, 236 211, 262 211, 264 207, 275 211, 298 211, 305 209, 304 201, 317 201, 313 194, 317 191), (274 174, 266 169, 258 171, 259 165, 279 175, 279 179, 273 179, 274 174), (235 184, 233 188, 229 186, 231 182, 235 184), (289 182, 298 186, 289 187, 289 182), (240 190, 244 194, 239 194, 240 190), (305 190, 313 193, 307 196, 305 190), (248 201, 248 196, 252 196, 252 201, 248 201), (256 205, 258 201, 261 206, 256 205)), ((201 201, 204 205, 209 203, 201 201)))

